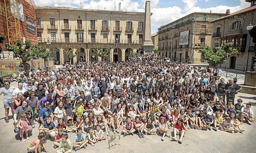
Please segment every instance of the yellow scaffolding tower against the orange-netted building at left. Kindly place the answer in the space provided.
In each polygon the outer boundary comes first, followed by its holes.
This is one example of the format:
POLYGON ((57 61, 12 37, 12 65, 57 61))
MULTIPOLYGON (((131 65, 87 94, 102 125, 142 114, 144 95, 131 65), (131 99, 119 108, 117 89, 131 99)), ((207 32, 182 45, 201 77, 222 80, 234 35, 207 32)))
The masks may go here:
POLYGON ((17 0, 4 0, 4 6, 5 6, 5 13, 6 13, 8 41, 9 41, 9 44, 13 44, 14 41, 21 38, 20 20, 19 20, 20 17, 19 17, 17 0), (13 13, 11 9, 13 9, 13 13), (16 19, 16 13, 17 13, 18 19, 16 19))

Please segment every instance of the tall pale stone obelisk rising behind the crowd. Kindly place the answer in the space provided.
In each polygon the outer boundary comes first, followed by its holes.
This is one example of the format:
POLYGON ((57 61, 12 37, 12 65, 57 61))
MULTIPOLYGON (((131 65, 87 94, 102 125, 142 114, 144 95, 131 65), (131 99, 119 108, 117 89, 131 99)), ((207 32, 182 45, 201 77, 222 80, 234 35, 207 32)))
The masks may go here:
POLYGON ((142 48, 144 50, 144 54, 153 53, 154 44, 151 39, 150 0, 147 0, 145 5, 144 33, 143 33, 142 48))

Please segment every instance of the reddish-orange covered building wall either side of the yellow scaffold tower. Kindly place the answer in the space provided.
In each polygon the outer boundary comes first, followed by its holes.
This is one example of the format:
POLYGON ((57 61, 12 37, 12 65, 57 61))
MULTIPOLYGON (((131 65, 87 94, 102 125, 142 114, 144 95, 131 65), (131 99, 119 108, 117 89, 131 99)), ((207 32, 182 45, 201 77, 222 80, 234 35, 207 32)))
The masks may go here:
MULTIPOLYGON (((36 25, 35 5, 31 5, 27 0, 18 0, 18 1, 23 4, 23 12, 24 12, 24 21, 20 21, 20 36, 21 36, 20 39, 23 40, 23 37, 26 37, 26 40, 31 40, 32 43, 37 43, 37 35, 28 33, 26 28, 26 16, 30 17, 31 19, 35 19, 35 25, 36 25)), ((10 3, 10 0, 6 0, 6 2, 10 3)), ((4 4, 4 0, 0 0, 0 3, 4 4)), ((6 16, 3 16, 1 13, 0 13, 0 27, 1 27, 0 33, 7 36, 8 33, 7 33, 6 16)), ((37 30, 36 30, 36 33, 37 33, 37 30)), ((8 36, 7 36, 6 42, 8 42, 8 36)), ((3 47, 3 50, 5 50, 4 45, 1 45, 1 47, 3 47)))

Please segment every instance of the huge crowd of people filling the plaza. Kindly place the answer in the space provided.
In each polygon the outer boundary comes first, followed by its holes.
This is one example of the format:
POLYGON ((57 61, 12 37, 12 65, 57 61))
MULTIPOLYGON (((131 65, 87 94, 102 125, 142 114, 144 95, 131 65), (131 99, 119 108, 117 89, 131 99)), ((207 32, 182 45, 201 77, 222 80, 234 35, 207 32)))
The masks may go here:
POLYGON ((251 104, 234 102, 242 87, 232 78, 225 83, 209 67, 137 54, 125 62, 66 63, 54 70, 19 72, 18 88, 5 82, 0 89, 5 121, 11 109, 22 142, 39 124, 37 139, 27 147, 36 153, 48 151, 46 136, 55 138, 58 153, 68 153, 87 143, 95 146, 110 133, 158 134, 161 141, 166 136, 182 143, 188 129, 242 133, 244 120, 254 122, 251 104), (76 133, 73 142, 68 133, 76 133))

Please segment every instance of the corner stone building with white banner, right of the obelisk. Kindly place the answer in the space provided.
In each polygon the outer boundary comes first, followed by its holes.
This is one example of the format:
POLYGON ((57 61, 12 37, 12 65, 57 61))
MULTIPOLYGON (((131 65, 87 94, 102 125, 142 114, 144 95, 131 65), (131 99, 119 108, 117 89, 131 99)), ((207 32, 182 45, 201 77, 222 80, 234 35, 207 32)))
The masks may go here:
POLYGON ((204 63, 195 49, 211 44, 211 24, 208 22, 225 14, 195 12, 158 28, 158 50, 161 57, 170 57, 171 31, 173 60, 183 63, 204 63))

